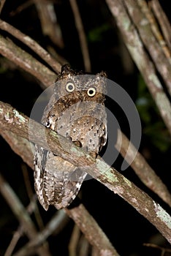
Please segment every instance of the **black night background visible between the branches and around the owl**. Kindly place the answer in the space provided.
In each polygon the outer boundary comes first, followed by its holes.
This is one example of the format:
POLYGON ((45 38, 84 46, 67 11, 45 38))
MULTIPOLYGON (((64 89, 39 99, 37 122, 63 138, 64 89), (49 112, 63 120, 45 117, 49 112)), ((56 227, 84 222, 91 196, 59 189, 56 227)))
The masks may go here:
MULTIPOLYGON (((49 45, 55 48, 61 56, 64 56, 69 61, 72 67, 84 69, 80 42, 69 1, 55 1, 57 18, 64 39, 63 49, 58 48, 50 41, 50 38, 42 35, 34 4, 30 4, 20 12, 16 11, 25 2, 7 0, 1 12, 1 19, 28 34, 44 48, 49 45)), ((137 105, 142 121, 140 152, 170 189, 170 135, 164 127, 140 72, 135 67, 123 45, 121 34, 119 34, 113 17, 107 9, 105 1, 84 0, 78 1, 78 4, 88 39, 92 73, 104 70, 107 72, 108 78, 114 80, 129 93, 135 105, 137 105), (141 99, 145 99, 145 105, 139 105, 141 99)), ((168 18, 170 18, 170 8, 167 6, 167 1, 161 1, 161 5, 168 18)), ((10 37, 4 31, 1 31, 1 34, 10 37)), ((28 50, 16 39, 15 42, 28 50)), ((29 116, 35 100, 42 92, 39 82, 23 70, 15 67, 14 64, 9 64, 2 56, 0 56, 0 64, 0 100, 9 103, 29 116)), ((107 108, 113 110, 121 129, 129 136, 129 127, 125 125, 126 117, 121 109, 117 105, 110 105, 110 101, 106 102, 106 105, 107 108)), ((22 159, 9 148, 2 138, 0 138, 0 156, 1 173, 12 189, 15 190, 20 200, 22 200, 23 205, 27 206, 29 200, 23 182, 22 159)), ((117 170, 120 170, 122 160, 121 157, 118 157, 115 161, 113 166, 117 170)), ((29 167, 28 175, 34 189, 33 171, 29 167)), ((125 170, 123 175, 151 195, 154 200, 161 203, 161 206, 170 212, 168 206, 140 182, 131 167, 125 170)), ((167 241, 164 238, 162 239, 158 230, 150 222, 144 219, 121 197, 114 195, 113 192, 99 184, 98 181, 94 179, 85 181, 80 197, 120 255, 160 255, 161 252, 159 250, 143 246, 143 243, 148 242, 156 244, 159 242, 159 245, 169 247, 167 241)), ((18 221, 1 196, 0 205, 0 255, 4 255, 13 232, 18 228, 18 221)), ((56 209, 50 207, 50 210, 45 212, 39 206, 39 211, 42 214, 43 221, 46 223, 53 216, 56 209)), ((67 246, 73 225, 74 223, 71 220, 61 233, 48 238, 52 255, 68 255, 67 246)), ((25 237, 21 238, 17 249, 26 241, 25 237)), ((169 255, 169 253, 165 255, 169 255)))

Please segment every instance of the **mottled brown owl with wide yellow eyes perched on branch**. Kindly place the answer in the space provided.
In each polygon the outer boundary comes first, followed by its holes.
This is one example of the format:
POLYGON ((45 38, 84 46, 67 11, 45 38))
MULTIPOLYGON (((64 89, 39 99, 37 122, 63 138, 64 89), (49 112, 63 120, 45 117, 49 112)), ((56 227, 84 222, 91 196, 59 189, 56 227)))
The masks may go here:
MULTIPOLYGON (((105 93, 104 72, 88 75, 66 64, 58 75, 42 124, 96 158, 107 140, 105 93)), ((49 205, 57 209, 69 206, 86 175, 81 167, 35 145, 34 187, 45 210, 49 205)))

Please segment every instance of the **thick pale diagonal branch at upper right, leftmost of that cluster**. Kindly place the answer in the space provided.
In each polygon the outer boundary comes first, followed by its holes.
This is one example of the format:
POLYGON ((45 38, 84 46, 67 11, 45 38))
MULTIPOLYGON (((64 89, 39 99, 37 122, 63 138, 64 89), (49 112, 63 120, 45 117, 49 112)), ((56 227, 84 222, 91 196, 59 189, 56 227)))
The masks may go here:
MULTIPOLYGON (((123 5, 123 2, 120 0, 106 0, 107 5, 110 11, 113 14, 113 17, 116 20, 118 28, 121 31, 123 40, 126 44, 126 47, 129 50, 129 53, 132 56, 137 68, 140 70, 142 77, 145 80, 145 83, 148 86, 151 95, 156 102, 161 118, 163 118, 164 124, 166 125, 168 131, 171 134, 171 105, 170 101, 167 98, 167 95, 164 93, 164 89, 161 86, 161 82, 156 75, 156 69, 151 61, 150 57, 145 51, 145 48, 142 44, 142 40, 137 33, 137 29, 134 26, 130 16, 127 13, 126 7, 123 5)), ((135 3, 135 1, 134 1, 135 3)), ((134 8, 133 8, 134 10, 134 8)), ((149 36, 150 37, 150 36, 149 36)), ((152 44, 151 42, 149 42, 152 44)), ((151 46, 152 47, 152 46, 151 46)), ((158 54, 157 54, 158 56, 158 54)), ((164 58, 162 58, 163 60, 164 58)), ((164 60, 165 63, 165 60, 164 60)), ((168 62, 169 64, 169 62, 168 62)), ((162 65, 162 61, 160 61, 162 65)), ((168 75, 168 70, 170 70, 170 64, 165 65, 166 72, 168 75)), ((163 69, 162 69, 163 70, 163 69)), ((171 72, 170 72, 171 74, 171 72)), ((163 74, 164 75, 164 74, 163 74)), ((166 76, 165 80, 168 77, 166 76)), ((170 75, 167 79, 167 84, 171 85, 170 75)))

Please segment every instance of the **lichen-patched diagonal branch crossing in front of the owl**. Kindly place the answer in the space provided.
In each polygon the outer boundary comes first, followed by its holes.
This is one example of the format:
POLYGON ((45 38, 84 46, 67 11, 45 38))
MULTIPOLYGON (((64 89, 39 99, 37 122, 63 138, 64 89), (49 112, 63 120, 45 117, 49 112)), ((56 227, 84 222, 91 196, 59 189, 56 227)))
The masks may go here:
MULTIPOLYGON (((57 132, 47 129, 36 121, 29 120, 27 116, 18 113, 10 105, 0 102, 0 126, 8 129, 23 138, 37 143, 39 146, 62 157, 75 166, 81 166, 88 174, 96 178, 108 189, 123 197, 136 210, 148 219, 171 244, 171 217, 164 211, 158 203, 154 202, 145 192, 142 192, 131 181, 118 173, 113 167, 107 165, 100 157, 94 159, 82 148, 75 146, 57 132), (28 134, 29 125, 29 134, 28 134), (67 148, 66 150, 64 148, 67 148)), ((87 233, 88 228, 83 225, 81 210, 69 210, 69 216, 75 220, 83 233, 87 233)), ((91 227, 90 229, 91 230, 91 227)), ((92 230, 93 231, 93 230, 92 230)), ((87 234, 90 240, 89 233, 87 234)), ((91 234, 92 238, 92 234, 91 234)), ((90 241, 91 242, 91 241, 90 241)))

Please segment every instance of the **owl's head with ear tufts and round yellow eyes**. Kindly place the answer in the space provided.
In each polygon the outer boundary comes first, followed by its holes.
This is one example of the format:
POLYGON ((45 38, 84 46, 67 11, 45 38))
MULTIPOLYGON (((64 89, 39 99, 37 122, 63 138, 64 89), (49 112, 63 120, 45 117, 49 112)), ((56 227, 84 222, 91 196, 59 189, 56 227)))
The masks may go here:
POLYGON ((68 64, 61 68, 61 74, 55 84, 54 94, 56 99, 74 99, 78 101, 94 101, 103 103, 106 93, 106 74, 100 72, 91 75, 84 72, 77 72, 71 69, 68 64))

